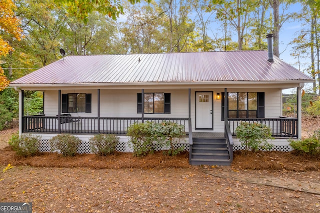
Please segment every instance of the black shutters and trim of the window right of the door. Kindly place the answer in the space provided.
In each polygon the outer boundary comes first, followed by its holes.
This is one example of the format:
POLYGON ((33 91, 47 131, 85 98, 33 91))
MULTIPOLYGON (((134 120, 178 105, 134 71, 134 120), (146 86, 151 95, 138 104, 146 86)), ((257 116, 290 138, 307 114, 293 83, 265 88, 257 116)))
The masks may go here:
MULTIPOLYGON (((237 93, 237 97, 238 97, 238 94, 239 93, 245 93, 245 92, 232 92, 232 93, 237 93)), ((248 115, 249 115, 249 111, 256 111, 256 118, 264 118, 264 108, 265 108, 265 105, 264 105, 264 97, 265 97, 265 94, 264 92, 246 92, 246 98, 248 99, 248 93, 256 93, 256 97, 257 97, 257 103, 256 103, 256 110, 249 110, 249 109, 246 109, 246 110, 239 110, 238 109, 238 99, 237 99, 237 109, 236 110, 229 110, 228 108, 228 105, 229 105, 229 100, 227 98, 227 101, 226 101, 226 106, 227 106, 227 117, 229 115, 229 111, 236 111, 236 115, 237 117, 236 118, 239 118, 238 115, 239 115, 239 111, 246 111, 246 117, 245 118, 248 118, 248 115)), ((227 92, 227 96, 228 97, 228 94, 229 92, 227 92)), ((224 92, 222 92, 221 94, 221 121, 224 121, 224 92)), ((248 108, 248 107, 247 107, 248 108)))

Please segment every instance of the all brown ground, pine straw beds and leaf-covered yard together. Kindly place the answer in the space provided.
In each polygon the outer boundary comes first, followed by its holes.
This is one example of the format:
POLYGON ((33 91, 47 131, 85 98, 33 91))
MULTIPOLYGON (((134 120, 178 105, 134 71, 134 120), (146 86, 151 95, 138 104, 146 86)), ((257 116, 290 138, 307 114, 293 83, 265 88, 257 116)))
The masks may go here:
MULTIPOLYGON (((303 124, 304 134, 320 129, 318 119, 303 124), (305 130, 305 128, 307 128, 305 130), (312 128, 312 129, 311 129, 312 128)), ((18 158, 7 146, 13 128, 0 132, 0 202, 32 202, 33 213, 298 213, 319 212, 320 196, 234 181, 188 165, 188 154, 145 158, 130 153, 108 157, 44 154, 18 158), (1 150, 2 149, 2 150, 1 150)), ((320 159, 292 153, 234 153, 228 170, 248 178, 263 176, 320 183, 320 159)))

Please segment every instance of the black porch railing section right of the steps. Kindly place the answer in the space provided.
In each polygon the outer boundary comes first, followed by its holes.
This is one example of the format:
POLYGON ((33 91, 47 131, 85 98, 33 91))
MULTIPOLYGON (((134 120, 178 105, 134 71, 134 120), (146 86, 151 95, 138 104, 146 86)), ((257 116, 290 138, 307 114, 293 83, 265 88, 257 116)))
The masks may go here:
POLYGON ((232 136, 241 122, 261 123, 268 126, 272 131, 272 137, 297 137, 297 118, 228 118, 232 136))

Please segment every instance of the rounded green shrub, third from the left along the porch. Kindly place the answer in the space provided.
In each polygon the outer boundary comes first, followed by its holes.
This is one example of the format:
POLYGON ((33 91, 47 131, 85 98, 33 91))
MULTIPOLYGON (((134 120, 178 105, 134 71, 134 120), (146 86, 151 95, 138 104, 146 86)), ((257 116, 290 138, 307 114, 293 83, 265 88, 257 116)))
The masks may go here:
POLYGON ((96 155, 106 156, 115 151, 115 147, 119 142, 119 137, 115 135, 94 135, 89 139, 90 149, 96 155))

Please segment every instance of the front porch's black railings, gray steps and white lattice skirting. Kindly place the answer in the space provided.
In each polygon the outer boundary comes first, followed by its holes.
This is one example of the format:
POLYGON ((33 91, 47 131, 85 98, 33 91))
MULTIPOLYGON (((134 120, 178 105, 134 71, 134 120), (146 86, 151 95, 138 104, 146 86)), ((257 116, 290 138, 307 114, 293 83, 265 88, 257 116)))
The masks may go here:
MULTIPOLYGON (((33 115, 22 117, 22 133, 39 134, 50 138, 49 135, 74 134, 84 137, 79 153, 89 153, 88 139, 94 134, 116 134, 121 142, 117 151, 130 151, 126 136, 127 128, 134 123, 145 121, 160 123, 170 121, 184 126, 186 138, 178 144, 189 152, 191 165, 230 165, 233 160, 234 130, 241 122, 259 122, 272 130, 272 136, 277 138, 297 138, 296 118, 227 118, 224 122, 224 133, 213 131, 192 131, 190 118, 124 118, 124 117, 73 117, 73 116, 45 116, 33 115)), ((42 151, 50 151, 47 140, 42 143, 42 151)), ((238 149, 239 145, 237 145, 238 149)), ((286 148, 285 148, 286 149, 286 148)), ((157 150, 157 148, 155 148, 157 150)))

